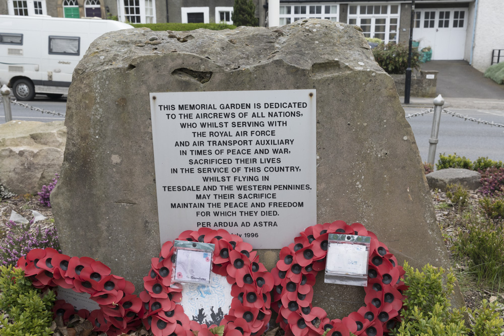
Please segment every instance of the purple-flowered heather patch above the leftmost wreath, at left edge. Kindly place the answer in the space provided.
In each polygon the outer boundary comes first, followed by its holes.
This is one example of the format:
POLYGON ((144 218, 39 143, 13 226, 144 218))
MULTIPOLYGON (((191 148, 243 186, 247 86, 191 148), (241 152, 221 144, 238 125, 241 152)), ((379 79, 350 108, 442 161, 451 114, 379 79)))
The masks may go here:
POLYGON ((16 265, 20 257, 34 248, 52 247, 61 253, 56 228, 40 229, 32 224, 33 220, 25 225, 6 223, 4 242, 0 244, 0 265, 16 265))

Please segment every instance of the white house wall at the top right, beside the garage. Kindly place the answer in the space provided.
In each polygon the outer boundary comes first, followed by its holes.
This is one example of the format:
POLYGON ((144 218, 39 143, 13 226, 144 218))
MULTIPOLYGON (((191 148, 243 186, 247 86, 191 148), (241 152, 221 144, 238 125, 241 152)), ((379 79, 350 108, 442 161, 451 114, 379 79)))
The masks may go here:
MULTIPOLYGON (((470 9, 474 8, 471 4, 470 9)), ((471 26, 467 30, 465 59, 471 60, 472 25, 474 10, 470 15, 471 26)), ((479 0, 474 35, 472 66, 484 72, 491 63, 492 49, 504 49, 504 4, 502 0, 479 0)))

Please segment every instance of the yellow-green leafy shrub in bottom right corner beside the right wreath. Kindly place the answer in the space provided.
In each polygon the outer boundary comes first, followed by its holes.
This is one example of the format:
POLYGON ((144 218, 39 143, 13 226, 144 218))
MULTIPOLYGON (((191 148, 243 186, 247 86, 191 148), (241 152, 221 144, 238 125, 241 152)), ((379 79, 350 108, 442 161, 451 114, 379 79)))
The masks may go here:
POLYGON ((450 295, 456 282, 452 271, 445 277, 443 268, 427 264, 420 272, 415 271, 407 262, 404 263, 404 269, 404 282, 409 287, 403 292, 403 320, 392 331, 393 335, 490 336, 502 332, 504 321, 495 311, 495 304, 483 300, 482 307, 472 312, 466 308, 451 308, 450 295), (466 312, 475 316, 469 326, 465 325, 466 312))

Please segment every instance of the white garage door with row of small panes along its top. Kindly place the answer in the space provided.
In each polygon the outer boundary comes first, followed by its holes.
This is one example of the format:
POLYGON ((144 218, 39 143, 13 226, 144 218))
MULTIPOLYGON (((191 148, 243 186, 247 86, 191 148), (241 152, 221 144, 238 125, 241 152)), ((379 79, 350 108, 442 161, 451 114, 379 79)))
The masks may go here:
POLYGON ((413 39, 430 46, 432 59, 464 59, 467 9, 440 8, 415 12, 413 39))

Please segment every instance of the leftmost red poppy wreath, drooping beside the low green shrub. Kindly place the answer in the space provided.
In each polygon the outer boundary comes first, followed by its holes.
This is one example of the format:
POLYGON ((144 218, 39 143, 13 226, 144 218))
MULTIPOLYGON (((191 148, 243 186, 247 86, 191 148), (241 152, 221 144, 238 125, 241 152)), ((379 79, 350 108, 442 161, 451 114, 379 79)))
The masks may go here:
MULTIPOLYGON (((60 286, 77 293, 87 293, 100 309, 89 312, 76 311, 64 300, 57 300, 52 308, 54 317, 61 316, 68 322, 73 315, 86 318, 93 330, 109 336, 136 330, 142 324, 142 301, 136 295, 135 286, 124 278, 110 274, 110 268, 89 257, 70 257, 53 248, 33 249, 18 260, 25 276, 35 288, 48 289, 60 286)), ((57 291, 57 289, 56 289, 57 291)))

